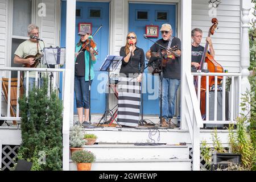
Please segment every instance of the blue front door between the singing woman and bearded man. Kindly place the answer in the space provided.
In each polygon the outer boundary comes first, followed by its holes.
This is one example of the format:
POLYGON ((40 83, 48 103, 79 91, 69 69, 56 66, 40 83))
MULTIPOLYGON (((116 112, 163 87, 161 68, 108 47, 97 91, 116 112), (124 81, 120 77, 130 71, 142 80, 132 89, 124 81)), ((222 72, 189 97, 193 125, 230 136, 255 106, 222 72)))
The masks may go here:
MULTIPOLYGON (((137 34, 137 46, 142 48, 146 53, 152 46, 152 42, 143 38, 146 34, 146 25, 156 25, 160 27, 163 23, 170 23, 172 26, 173 36, 176 35, 176 5, 160 5, 146 3, 129 3, 129 32, 133 31, 137 34)), ((150 38, 158 40, 162 38, 160 32, 158 38, 150 38)), ((147 73, 147 69, 144 71, 147 73)), ((158 84, 154 84, 158 77, 144 74, 143 90, 143 106, 144 114, 159 114, 159 97, 158 84), (157 92, 157 93, 156 93, 157 92)), ((158 82, 156 82, 158 83, 158 82)))

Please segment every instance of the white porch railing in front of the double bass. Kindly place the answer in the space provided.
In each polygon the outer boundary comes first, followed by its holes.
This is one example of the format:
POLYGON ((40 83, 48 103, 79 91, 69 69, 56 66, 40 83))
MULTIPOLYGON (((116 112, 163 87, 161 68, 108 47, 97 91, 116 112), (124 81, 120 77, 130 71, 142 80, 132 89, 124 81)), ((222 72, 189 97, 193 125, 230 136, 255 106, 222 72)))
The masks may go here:
MULTIPOLYGON (((201 98, 201 89, 197 88, 197 100, 201 103, 201 99, 205 99, 205 117, 204 123, 208 124, 228 124, 234 123, 234 119, 240 116, 241 109, 241 73, 192 73, 193 76, 198 76, 198 84, 201 85, 201 78, 206 77, 205 88, 205 98, 201 98), (209 90, 209 76, 214 76, 214 85, 209 90), (217 85, 218 77, 222 77, 222 85, 217 85), (229 83, 228 80, 229 79, 229 83), (230 80, 231 79, 231 80, 230 80), (228 89, 226 89, 228 88, 228 89), (213 110, 209 109, 209 92, 214 92, 214 106, 211 107, 213 110), (218 94, 220 93, 220 94, 218 94), (226 94, 227 93, 227 94, 226 94), (226 98, 226 95, 228 98, 226 98), (222 97, 222 99, 221 99, 222 97), (221 106, 222 115, 217 118, 218 106, 221 106), (226 115, 226 111, 228 114, 226 115), (209 118, 209 113, 213 115, 209 118), (220 119, 221 118, 221 119, 220 119)), ((202 85, 203 86, 203 85, 202 85)), ((213 95, 213 94, 212 94, 213 95)))

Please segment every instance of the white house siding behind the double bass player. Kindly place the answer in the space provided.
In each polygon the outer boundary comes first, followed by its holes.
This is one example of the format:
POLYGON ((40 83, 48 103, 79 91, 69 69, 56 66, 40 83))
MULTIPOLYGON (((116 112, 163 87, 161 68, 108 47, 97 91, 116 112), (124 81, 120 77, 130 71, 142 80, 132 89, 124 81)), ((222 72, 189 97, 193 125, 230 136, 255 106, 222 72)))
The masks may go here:
POLYGON ((203 46, 208 35, 211 19, 218 19, 218 30, 211 35, 215 50, 214 59, 228 69, 240 72, 240 0, 223 0, 217 7, 217 16, 209 16, 209 3, 206 0, 192 1, 192 29, 203 30, 203 46))

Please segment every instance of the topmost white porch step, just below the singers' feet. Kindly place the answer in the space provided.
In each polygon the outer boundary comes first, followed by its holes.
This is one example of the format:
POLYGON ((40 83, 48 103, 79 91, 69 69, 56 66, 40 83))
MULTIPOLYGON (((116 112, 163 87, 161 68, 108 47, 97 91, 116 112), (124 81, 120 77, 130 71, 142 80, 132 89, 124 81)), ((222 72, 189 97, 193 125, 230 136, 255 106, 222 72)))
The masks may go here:
POLYGON ((84 129, 85 133, 95 134, 97 143, 108 144, 134 144, 134 143, 166 143, 179 144, 185 142, 191 144, 188 130, 179 129, 130 129, 116 127, 98 127, 84 129))

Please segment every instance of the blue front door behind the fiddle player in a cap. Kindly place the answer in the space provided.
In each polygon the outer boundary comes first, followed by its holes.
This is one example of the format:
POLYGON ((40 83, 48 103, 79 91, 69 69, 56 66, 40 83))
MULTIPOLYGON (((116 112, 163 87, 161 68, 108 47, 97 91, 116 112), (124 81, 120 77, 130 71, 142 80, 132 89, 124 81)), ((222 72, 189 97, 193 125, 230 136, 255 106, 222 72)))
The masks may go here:
MULTIPOLYGON (((61 2, 61 47, 65 47, 65 27, 66 27, 66 6, 65 1, 61 2)), ((100 73, 102 62, 109 53, 109 3, 107 2, 76 2, 76 43, 79 42, 80 36, 79 23, 91 23, 92 34, 102 25, 101 29, 93 36, 94 42, 97 43, 98 55, 97 62, 94 64, 95 77, 91 89, 91 113, 104 113, 105 94, 97 91, 97 86, 101 80, 97 80, 100 73)), ((75 45, 74 45, 75 46, 75 45)), ((107 74, 107 73, 103 73, 107 74)), ((75 97, 74 97, 75 100, 75 97)), ((74 102, 74 113, 77 113, 76 102, 74 102)))

